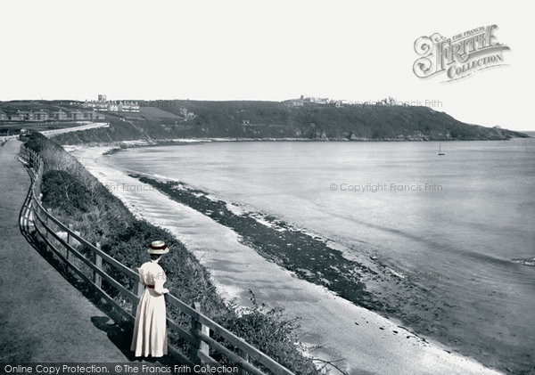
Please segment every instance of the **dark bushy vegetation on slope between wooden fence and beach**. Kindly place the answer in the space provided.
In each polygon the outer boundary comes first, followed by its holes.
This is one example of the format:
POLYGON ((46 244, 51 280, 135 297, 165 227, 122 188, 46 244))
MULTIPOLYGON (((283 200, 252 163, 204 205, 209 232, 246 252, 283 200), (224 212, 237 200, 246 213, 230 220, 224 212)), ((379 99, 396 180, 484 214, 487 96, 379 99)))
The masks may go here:
MULTIPOLYGON (((119 199, 57 143, 43 135, 32 134, 26 146, 44 159, 43 203, 63 223, 73 224, 86 240, 99 242, 103 251, 133 269, 148 261, 146 247, 152 240, 164 240, 172 251, 162 259, 161 265, 168 276, 166 287, 177 298, 188 304, 199 302, 204 314, 292 371, 319 373, 313 361, 302 355, 302 346, 294 333, 297 318, 289 320, 281 310, 266 309, 256 301, 252 292, 252 307, 238 312, 232 301, 226 304, 218 295, 209 271, 171 232, 136 219, 119 199)), ((88 254, 83 247, 80 251, 88 254)), ((124 285, 132 286, 134 281, 110 268, 105 269, 124 285)), ((105 282, 103 288, 128 307, 124 298, 105 282)), ((185 315, 173 306, 168 306, 168 310, 179 324, 188 323, 185 315)), ((169 339, 186 348, 175 335, 170 335, 169 339)))

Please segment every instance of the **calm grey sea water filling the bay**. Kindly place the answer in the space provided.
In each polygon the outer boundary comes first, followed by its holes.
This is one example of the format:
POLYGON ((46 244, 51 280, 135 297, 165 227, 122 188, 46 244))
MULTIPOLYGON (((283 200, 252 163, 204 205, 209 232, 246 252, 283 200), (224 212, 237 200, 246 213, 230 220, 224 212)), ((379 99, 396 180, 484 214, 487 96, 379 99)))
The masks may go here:
POLYGON ((276 216, 390 272, 389 315, 484 363, 535 366, 535 139, 223 142, 109 163, 276 216))

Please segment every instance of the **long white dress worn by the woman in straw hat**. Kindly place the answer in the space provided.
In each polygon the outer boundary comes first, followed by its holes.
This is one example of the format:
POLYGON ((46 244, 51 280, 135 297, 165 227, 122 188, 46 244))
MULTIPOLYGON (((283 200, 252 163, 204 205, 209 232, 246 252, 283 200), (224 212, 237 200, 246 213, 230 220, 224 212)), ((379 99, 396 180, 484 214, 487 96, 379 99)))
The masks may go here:
POLYGON ((138 356, 161 357, 168 354, 166 308, 163 287, 165 273, 157 261, 151 260, 139 267, 139 281, 145 289, 136 311, 136 324, 130 350, 138 356), (148 288, 153 285, 154 288, 148 288))

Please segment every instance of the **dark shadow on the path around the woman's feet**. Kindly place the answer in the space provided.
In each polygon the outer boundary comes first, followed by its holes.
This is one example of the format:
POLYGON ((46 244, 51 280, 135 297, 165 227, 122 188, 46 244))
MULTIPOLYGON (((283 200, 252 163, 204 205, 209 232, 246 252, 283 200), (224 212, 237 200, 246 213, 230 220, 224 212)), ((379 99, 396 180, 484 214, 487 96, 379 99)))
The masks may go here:
POLYGON ((117 346, 121 353, 128 358, 128 361, 136 362, 149 362, 149 363, 162 363, 170 364, 175 363, 171 355, 164 355, 160 358, 153 357, 136 357, 134 352, 130 350, 130 344, 132 342, 132 330, 127 327, 121 326, 116 322, 113 322, 107 316, 92 316, 91 322, 99 330, 106 332, 106 335, 117 346))

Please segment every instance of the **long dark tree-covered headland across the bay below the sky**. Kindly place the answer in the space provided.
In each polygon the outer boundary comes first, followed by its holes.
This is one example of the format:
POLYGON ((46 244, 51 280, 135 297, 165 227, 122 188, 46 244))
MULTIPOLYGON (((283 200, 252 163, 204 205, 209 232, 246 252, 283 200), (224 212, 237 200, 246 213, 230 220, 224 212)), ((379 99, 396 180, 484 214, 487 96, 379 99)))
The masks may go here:
POLYGON ((199 137, 472 141, 528 136, 465 124, 428 107, 204 101, 140 104, 141 113, 108 116, 109 128, 62 135, 56 140, 63 144, 199 137))

